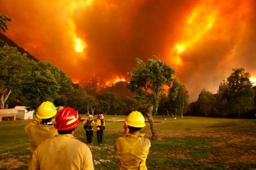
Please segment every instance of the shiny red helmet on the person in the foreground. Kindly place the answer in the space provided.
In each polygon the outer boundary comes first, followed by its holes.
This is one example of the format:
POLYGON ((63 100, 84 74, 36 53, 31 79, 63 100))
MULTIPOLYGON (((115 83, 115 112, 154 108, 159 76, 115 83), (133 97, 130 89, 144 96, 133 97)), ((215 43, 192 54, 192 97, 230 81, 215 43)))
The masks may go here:
POLYGON ((54 128, 57 130, 69 130, 77 125, 80 122, 77 111, 71 107, 65 107, 58 112, 55 118, 54 128))

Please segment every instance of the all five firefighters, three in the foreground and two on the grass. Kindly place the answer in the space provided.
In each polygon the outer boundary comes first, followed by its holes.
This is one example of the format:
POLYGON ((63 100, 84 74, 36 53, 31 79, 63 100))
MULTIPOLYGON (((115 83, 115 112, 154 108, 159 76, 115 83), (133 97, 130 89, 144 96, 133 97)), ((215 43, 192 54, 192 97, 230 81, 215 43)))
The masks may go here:
MULTIPOLYGON (((36 119, 28 123, 25 132, 31 143, 29 169, 94 169, 90 148, 74 134, 81 117, 72 107, 55 107, 43 102, 36 111, 36 119)), ((92 144, 93 127, 97 141, 103 144, 105 121, 103 114, 83 121, 88 144, 92 144)), ((150 140, 141 134, 145 119, 141 112, 132 111, 124 121, 124 134, 115 141, 119 166, 116 169, 147 169, 146 160, 150 140)))

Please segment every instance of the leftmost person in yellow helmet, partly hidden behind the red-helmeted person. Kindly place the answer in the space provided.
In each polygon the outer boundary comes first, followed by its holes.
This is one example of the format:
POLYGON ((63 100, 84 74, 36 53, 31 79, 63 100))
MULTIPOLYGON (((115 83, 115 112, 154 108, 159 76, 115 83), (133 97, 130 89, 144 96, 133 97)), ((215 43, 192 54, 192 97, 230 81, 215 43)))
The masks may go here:
POLYGON ((53 118, 57 113, 57 109, 52 102, 42 102, 37 109, 36 119, 25 127, 25 132, 30 141, 31 155, 28 160, 29 169, 31 167, 31 158, 37 146, 45 139, 58 135, 57 130, 53 127, 53 118))

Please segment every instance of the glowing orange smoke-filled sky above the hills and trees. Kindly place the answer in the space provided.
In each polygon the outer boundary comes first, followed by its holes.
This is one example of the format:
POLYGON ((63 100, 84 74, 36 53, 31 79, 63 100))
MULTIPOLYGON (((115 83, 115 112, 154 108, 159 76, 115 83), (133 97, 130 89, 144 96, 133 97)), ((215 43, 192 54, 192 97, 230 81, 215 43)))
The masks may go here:
MULTIPOLYGON (((256 1, 1 0, 6 36, 77 79, 126 77, 135 58, 173 66, 191 100, 243 67, 256 77, 256 1)), ((254 84, 256 85, 256 84, 254 84)))

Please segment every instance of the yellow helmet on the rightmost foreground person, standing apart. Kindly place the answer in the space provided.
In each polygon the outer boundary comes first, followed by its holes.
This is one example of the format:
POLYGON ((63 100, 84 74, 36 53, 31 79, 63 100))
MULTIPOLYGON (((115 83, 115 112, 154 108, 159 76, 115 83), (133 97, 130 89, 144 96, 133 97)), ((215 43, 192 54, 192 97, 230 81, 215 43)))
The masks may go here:
POLYGON ((144 116, 138 111, 131 112, 125 120, 125 123, 130 127, 140 128, 146 126, 144 116))

